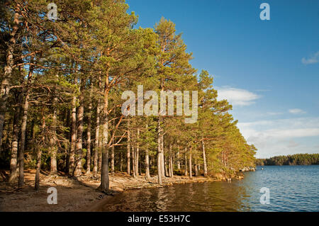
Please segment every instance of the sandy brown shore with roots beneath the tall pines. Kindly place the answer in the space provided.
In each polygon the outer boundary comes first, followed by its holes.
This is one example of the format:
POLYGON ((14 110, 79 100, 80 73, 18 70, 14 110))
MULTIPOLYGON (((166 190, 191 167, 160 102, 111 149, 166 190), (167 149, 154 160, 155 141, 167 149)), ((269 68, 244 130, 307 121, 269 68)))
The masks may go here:
MULTIPOLYGON (((9 186, 8 183, 0 181, 0 211, 91 211, 101 200, 106 197, 103 193, 96 191, 100 181, 92 179, 91 176, 81 176, 77 179, 63 174, 50 176, 43 172, 40 175, 40 191, 35 191, 35 170, 25 171, 26 186, 21 189, 9 186), (47 204, 47 188, 57 188, 57 205, 47 204)), ((240 176, 237 179, 242 179, 240 176)), ((175 183, 202 183, 208 181, 222 181, 223 176, 206 178, 202 176, 174 176, 174 178, 163 179, 162 186, 171 186, 175 183)), ((145 176, 128 176, 125 173, 110 175, 110 189, 123 192, 131 189, 158 188, 157 176, 145 179, 145 176)))

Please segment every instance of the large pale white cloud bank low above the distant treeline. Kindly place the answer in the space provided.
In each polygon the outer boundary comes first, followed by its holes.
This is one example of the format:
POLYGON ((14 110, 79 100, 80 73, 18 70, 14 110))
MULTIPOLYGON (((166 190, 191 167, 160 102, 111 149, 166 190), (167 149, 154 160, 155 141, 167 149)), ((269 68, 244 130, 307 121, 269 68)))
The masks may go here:
POLYGON ((318 152, 313 145, 319 145, 319 118, 259 120, 238 123, 238 127, 247 142, 257 147, 257 157, 318 152))

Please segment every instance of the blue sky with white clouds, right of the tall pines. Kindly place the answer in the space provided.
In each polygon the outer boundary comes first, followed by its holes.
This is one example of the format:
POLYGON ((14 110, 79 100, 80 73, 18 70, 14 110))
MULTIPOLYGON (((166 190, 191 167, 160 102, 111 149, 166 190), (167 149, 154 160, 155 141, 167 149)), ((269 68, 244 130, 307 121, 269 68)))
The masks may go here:
POLYGON ((127 0, 138 26, 177 25, 194 68, 220 98, 257 157, 319 153, 319 1, 127 0), (270 6, 270 21, 259 18, 270 6))

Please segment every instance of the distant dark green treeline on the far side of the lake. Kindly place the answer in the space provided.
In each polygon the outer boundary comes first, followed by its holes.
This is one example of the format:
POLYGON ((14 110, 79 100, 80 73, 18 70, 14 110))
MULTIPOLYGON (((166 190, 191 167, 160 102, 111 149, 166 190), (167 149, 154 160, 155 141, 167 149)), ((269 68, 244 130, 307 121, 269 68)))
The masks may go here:
POLYGON ((257 166, 284 166, 284 165, 318 165, 319 154, 293 154, 275 156, 269 159, 256 159, 257 166))

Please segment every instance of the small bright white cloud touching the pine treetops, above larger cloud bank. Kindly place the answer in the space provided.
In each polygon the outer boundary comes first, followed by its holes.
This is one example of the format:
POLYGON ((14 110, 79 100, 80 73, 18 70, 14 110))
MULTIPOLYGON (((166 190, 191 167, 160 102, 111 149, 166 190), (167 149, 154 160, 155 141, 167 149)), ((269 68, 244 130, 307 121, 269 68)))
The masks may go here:
POLYGON ((233 106, 250 106, 254 104, 254 100, 261 97, 245 89, 222 87, 217 90, 218 100, 228 100, 233 106))

